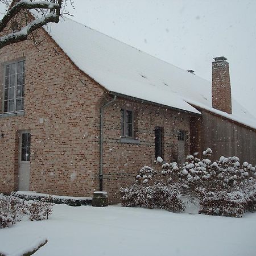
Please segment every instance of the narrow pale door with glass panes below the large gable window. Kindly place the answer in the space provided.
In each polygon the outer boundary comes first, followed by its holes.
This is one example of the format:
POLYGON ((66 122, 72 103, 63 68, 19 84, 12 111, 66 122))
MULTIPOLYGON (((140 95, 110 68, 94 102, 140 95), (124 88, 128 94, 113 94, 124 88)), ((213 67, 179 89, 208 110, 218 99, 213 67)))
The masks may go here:
POLYGON ((30 189, 30 144, 29 131, 20 131, 19 136, 19 191, 30 189))

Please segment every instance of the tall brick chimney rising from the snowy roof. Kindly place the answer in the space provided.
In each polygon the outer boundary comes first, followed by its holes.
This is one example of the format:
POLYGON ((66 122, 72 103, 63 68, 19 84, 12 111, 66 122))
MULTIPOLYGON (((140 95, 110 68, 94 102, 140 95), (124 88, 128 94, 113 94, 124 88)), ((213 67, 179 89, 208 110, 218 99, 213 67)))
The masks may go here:
POLYGON ((212 63, 212 107, 232 114, 229 63, 225 57, 213 58, 212 63))

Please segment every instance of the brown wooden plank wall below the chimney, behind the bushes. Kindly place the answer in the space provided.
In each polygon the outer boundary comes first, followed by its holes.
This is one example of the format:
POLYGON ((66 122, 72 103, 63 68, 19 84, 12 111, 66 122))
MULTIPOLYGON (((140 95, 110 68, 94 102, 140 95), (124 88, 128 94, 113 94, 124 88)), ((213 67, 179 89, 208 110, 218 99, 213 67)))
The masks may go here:
POLYGON ((203 111, 201 148, 212 148, 212 159, 238 156, 242 162, 256 164, 256 131, 203 111))

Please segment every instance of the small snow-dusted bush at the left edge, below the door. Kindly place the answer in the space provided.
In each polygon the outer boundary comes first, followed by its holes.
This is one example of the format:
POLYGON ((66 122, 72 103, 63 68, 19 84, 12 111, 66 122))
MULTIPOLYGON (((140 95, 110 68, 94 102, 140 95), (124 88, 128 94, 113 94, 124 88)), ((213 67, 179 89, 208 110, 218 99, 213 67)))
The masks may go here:
POLYGON ((15 196, 0 195, 0 228, 6 228, 17 221, 21 221, 24 214, 27 214, 30 220, 48 219, 52 213, 52 205, 46 200, 25 201, 15 196))

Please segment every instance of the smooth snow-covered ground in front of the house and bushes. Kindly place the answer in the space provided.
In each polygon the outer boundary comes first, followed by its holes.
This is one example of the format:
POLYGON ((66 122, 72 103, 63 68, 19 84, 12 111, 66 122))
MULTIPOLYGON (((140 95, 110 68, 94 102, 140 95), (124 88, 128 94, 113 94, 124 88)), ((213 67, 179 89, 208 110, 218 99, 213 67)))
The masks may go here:
POLYGON ((242 218, 166 210, 55 205, 46 221, 0 230, 0 251, 13 254, 36 241, 34 255, 256 255, 256 214, 242 218))

